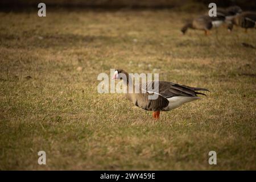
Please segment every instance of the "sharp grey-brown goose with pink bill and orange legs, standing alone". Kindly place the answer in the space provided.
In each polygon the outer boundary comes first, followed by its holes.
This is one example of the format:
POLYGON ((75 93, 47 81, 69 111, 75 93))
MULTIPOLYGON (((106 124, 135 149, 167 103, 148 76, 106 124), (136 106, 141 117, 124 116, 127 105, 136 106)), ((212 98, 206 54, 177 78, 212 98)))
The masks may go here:
MULTIPOLYGON (((183 105, 186 102, 199 100, 200 97, 198 97, 197 94, 205 95, 204 93, 197 91, 209 92, 209 90, 205 88, 195 88, 186 85, 179 85, 168 81, 148 81, 146 84, 140 83, 139 85, 135 85, 133 84, 133 81, 131 81, 132 79, 129 76, 129 73, 123 69, 116 69, 112 79, 123 80, 123 84, 127 86, 127 93, 125 93, 125 97, 129 101, 133 102, 135 106, 144 110, 153 111, 153 118, 155 119, 159 118, 160 111, 170 111, 183 105), (148 88, 150 84, 154 85, 155 88, 158 85, 158 92, 146 91, 146 88, 148 88), (139 92, 129 93, 129 86, 133 86, 133 89, 135 86, 139 86, 139 92), (143 90, 146 92, 142 92, 143 90), (152 94, 157 94, 158 97, 155 100, 149 100, 148 96, 152 94)), ((156 90, 155 88, 154 90, 156 90)))

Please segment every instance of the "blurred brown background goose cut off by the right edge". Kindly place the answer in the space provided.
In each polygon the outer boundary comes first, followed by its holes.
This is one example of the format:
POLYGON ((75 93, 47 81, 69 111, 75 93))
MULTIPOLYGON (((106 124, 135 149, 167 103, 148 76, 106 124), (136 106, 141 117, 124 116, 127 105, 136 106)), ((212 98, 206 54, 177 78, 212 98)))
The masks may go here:
POLYGON ((228 26, 229 31, 232 31, 233 25, 236 25, 245 28, 245 32, 247 32, 247 28, 256 28, 256 13, 245 11, 239 15, 234 16, 231 22, 232 23, 230 23, 228 26))

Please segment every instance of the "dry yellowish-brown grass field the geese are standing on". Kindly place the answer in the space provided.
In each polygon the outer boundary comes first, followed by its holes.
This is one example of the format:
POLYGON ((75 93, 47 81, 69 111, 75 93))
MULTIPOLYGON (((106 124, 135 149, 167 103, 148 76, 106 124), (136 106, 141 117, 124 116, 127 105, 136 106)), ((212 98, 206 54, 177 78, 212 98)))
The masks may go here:
POLYGON ((0 169, 256 169, 256 51, 241 45, 256 46, 256 30, 181 35, 191 16, 0 13, 0 169), (155 121, 122 94, 97 93, 110 68, 211 92, 155 121))

